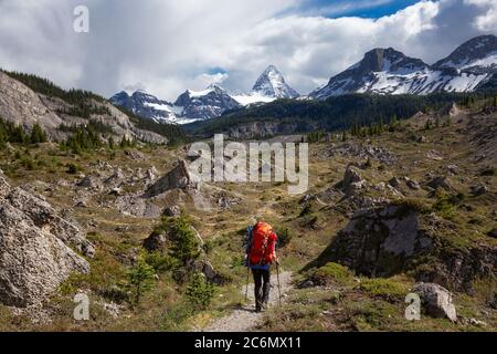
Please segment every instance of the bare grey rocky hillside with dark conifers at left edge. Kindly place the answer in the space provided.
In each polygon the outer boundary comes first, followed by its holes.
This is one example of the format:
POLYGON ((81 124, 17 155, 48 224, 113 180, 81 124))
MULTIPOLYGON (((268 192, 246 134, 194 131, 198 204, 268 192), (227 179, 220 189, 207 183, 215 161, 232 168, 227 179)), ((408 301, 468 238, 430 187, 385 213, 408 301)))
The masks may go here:
MULTIPOLYGON (((64 91, 34 75, 0 71, 0 117, 31 131, 40 125, 53 140, 62 140, 68 131, 98 124, 116 140, 136 139, 165 144, 170 134, 163 127, 142 124, 106 100, 83 91, 64 91), (144 127, 145 126, 145 127, 144 127)), ((171 127, 169 131, 176 131, 171 127)))

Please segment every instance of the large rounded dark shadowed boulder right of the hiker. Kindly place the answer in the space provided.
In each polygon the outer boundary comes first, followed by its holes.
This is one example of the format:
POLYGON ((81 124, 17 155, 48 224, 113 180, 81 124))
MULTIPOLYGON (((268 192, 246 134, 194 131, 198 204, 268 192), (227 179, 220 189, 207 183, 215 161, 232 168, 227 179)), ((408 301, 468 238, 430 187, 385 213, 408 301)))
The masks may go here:
POLYGON ((415 210, 389 205, 356 212, 317 262, 341 263, 369 277, 390 277, 432 247, 415 210))

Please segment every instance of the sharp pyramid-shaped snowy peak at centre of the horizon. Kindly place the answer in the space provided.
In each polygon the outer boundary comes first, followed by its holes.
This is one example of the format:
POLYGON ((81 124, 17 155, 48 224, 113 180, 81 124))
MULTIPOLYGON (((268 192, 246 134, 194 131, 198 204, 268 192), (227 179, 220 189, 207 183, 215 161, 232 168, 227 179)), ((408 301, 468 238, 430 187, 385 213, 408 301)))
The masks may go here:
POLYGON ((252 92, 274 98, 295 98, 299 94, 292 88, 275 65, 268 65, 258 76, 252 92))

